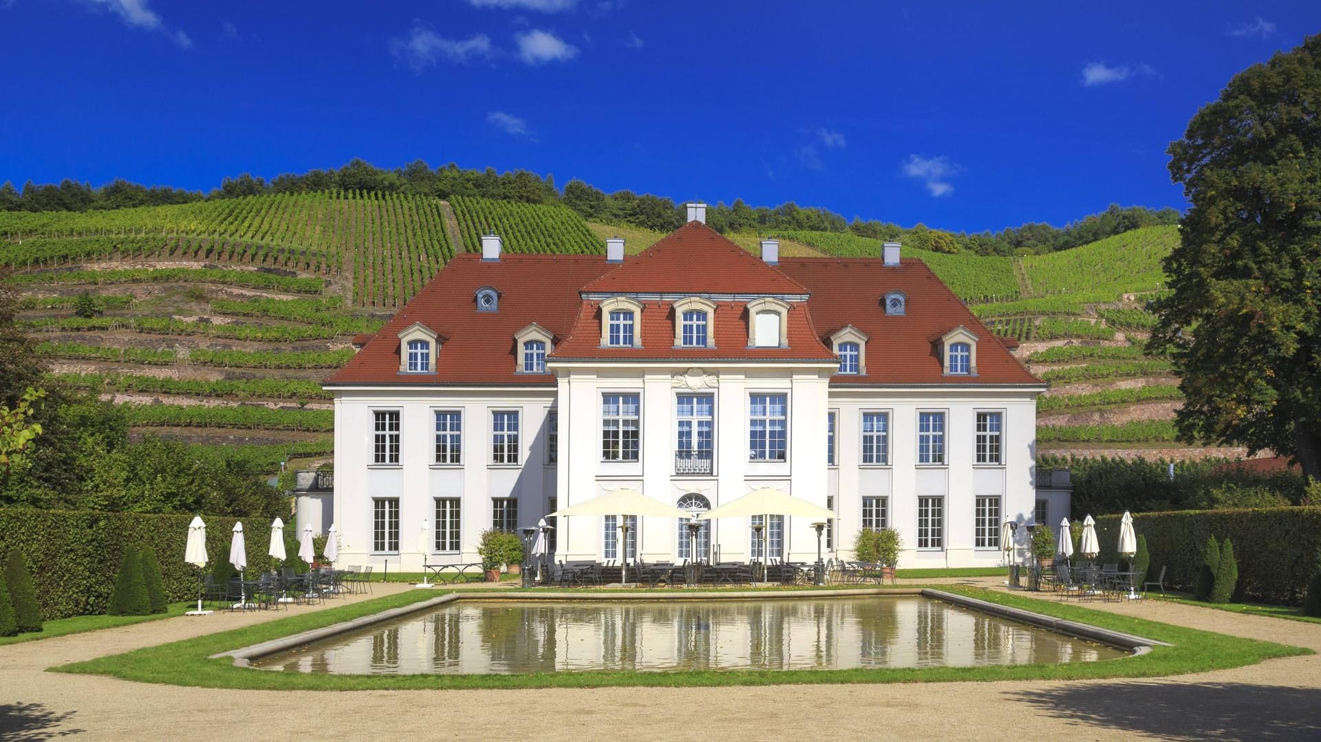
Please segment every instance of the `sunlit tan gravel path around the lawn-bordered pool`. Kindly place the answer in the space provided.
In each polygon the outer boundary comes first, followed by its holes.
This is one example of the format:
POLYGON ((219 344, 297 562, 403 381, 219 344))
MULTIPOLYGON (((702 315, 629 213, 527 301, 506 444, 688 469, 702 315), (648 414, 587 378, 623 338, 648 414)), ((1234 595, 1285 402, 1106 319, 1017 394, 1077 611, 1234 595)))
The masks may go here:
MULTIPOLYGON (((403 589, 376 585, 375 595, 403 589)), ((1321 651, 1321 624, 1157 601, 1090 606, 1321 651)), ((262 692, 42 672, 284 615, 173 618, 0 647, 0 738, 1321 738, 1321 656, 1157 680, 674 689, 262 692)))

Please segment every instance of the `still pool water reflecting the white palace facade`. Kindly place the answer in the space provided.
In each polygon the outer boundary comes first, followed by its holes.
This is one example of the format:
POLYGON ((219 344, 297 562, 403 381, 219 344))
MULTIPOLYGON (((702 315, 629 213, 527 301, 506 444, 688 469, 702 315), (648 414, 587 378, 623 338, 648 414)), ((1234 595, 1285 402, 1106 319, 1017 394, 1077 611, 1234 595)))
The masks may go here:
POLYGON ((449 603, 255 660, 353 675, 843 669, 1096 661, 1125 652, 923 597, 449 603))

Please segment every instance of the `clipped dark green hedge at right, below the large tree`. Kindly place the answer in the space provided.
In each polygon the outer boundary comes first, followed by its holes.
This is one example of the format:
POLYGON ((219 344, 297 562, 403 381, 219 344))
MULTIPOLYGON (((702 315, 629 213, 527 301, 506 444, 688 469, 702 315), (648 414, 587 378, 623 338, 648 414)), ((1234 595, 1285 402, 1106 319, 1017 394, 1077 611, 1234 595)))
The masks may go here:
MULTIPOLYGON (((1119 561, 1119 515, 1096 519, 1100 561, 1119 561)), ((1250 601, 1300 605, 1321 548, 1321 507, 1189 510, 1133 514, 1133 529, 1147 536, 1151 580, 1161 565, 1168 586, 1193 590, 1206 539, 1234 541, 1238 595, 1250 601)))

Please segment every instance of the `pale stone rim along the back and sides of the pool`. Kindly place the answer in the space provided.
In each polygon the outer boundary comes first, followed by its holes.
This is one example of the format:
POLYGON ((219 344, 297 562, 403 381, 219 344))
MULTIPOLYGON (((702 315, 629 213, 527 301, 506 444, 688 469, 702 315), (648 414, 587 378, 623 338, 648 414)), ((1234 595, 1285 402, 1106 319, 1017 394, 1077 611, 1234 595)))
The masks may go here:
POLYGON ((601 593, 564 593, 564 594, 528 593, 523 595, 510 595, 509 593, 501 591, 501 593, 449 593, 446 595, 437 595, 435 598, 417 601, 416 603, 410 603, 407 606, 399 606, 383 610, 380 613, 374 613, 371 615, 363 615, 353 621, 343 621, 339 623, 333 623, 330 626, 324 626, 321 628, 313 628, 309 631, 292 634, 289 636, 283 636, 280 639, 272 639, 269 642, 262 642, 259 644, 250 644, 247 647, 240 647, 238 650, 230 650, 227 652, 211 655, 207 659, 234 658, 235 667, 251 667, 252 660, 264 658, 267 655, 273 655, 276 652, 293 650, 304 644, 310 644, 313 642, 329 639, 339 634, 347 634, 349 631, 366 628, 375 623, 382 623, 386 621, 408 615, 411 613, 423 611, 427 609, 443 606, 456 601, 601 602, 604 599, 613 602, 613 601, 654 601, 657 598, 663 598, 664 601, 738 601, 748 598, 758 598, 758 599, 787 599, 787 598, 806 598, 806 597, 848 598, 848 597, 864 597, 864 595, 922 595, 927 598, 934 598, 942 602, 970 607, 980 613, 987 613, 991 615, 1009 618, 1012 621, 1037 626, 1038 628, 1046 628, 1049 631, 1063 634, 1066 636, 1074 636, 1078 639, 1090 639, 1092 642, 1099 642, 1102 644, 1110 644, 1111 647, 1132 652, 1135 656, 1149 652, 1152 646, 1164 646, 1164 647, 1170 646, 1165 642, 1157 642, 1155 639, 1147 639, 1144 636, 1135 636, 1132 634, 1111 631, 1108 628, 1100 628, 1099 626, 1091 626, 1089 623, 1078 623, 1074 621, 1065 621, 1061 618, 1054 618, 1050 615, 1033 613, 1022 609, 1001 606, 1000 603, 980 601, 978 598, 968 598, 964 595, 959 595, 955 593, 946 593, 945 590, 935 590, 931 588, 864 588, 864 589, 851 589, 851 590, 786 590, 775 593, 750 591, 750 590, 740 590, 736 593, 684 593, 684 594, 622 593, 622 594, 609 594, 609 597, 602 597, 601 593))

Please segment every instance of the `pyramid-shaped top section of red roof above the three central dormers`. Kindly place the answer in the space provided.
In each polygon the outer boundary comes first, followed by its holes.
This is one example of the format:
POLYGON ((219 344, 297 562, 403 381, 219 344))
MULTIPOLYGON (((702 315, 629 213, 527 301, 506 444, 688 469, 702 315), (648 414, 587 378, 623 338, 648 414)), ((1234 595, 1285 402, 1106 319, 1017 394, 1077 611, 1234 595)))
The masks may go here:
POLYGON ((688 222, 583 287, 589 293, 804 294, 789 276, 701 222, 688 222))

